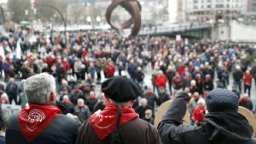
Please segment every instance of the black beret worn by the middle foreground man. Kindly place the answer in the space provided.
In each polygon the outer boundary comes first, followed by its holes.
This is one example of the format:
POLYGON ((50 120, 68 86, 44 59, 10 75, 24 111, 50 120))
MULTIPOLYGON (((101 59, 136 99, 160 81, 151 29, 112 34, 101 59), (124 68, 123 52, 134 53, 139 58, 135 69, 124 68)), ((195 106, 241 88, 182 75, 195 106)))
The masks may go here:
POLYGON ((116 102, 134 100, 143 93, 140 85, 126 76, 114 76, 107 79, 102 83, 101 91, 116 102))

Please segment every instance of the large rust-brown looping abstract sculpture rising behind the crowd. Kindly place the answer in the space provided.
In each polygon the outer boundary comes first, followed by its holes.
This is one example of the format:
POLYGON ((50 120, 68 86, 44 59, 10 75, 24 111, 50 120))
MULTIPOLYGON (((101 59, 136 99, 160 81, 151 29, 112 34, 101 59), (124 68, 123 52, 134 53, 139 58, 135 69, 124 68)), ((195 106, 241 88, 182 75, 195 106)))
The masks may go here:
POLYGON ((106 19, 109 25, 111 26, 111 28, 116 29, 119 33, 121 33, 123 29, 129 28, 131 25, 133 25, 130 36, 136 36, 139 33, 140 26, 141 26, 140 11, 141 11, 141 5, 137 0, 114 0, 107 9, 106 19), (111 13, 114 11, 116 6, 118 5, 121 5, 131 15, 131 19, 122 23, 121 26, 115 25, 110 20, 111 13))

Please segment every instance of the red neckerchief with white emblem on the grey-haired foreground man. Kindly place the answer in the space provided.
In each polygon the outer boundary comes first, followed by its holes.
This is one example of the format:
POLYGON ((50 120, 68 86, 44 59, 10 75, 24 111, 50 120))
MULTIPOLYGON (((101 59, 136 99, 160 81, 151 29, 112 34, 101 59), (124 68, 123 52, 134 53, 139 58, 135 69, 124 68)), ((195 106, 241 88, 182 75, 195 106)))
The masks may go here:
POLYGON ((23 137, 27 142, 33 141, 57 114, 61 114, 61 111, 54 106, 29 105, 28 109, 21 110, 19 126, 23 137))

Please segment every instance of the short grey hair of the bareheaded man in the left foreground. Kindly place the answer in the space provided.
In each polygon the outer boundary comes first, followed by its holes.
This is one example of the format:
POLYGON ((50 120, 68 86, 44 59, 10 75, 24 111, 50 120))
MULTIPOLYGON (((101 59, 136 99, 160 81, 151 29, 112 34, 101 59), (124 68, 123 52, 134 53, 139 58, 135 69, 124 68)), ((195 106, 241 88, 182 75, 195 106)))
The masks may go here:
POLYGON ((24 84, 28 103, 47 105, 51 92, 56 92, 55 79, 47 73, 29 77, 24 84))

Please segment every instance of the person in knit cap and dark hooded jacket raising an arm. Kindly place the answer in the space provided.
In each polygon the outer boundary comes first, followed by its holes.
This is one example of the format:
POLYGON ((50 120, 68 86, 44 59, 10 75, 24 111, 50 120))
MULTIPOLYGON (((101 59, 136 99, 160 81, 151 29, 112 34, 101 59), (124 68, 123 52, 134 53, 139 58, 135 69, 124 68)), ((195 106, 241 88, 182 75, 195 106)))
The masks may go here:
POLYGON ((182 125, 188 92, 178 94, 158 125, 163 144, 167 143, 204 143, 204 144, 252 144, 253 129, 247 119, 239 114, 236 93, 225 89, 211 91, 206 99, 209 114, 200 126, 182 125))

